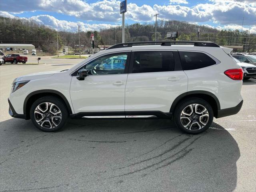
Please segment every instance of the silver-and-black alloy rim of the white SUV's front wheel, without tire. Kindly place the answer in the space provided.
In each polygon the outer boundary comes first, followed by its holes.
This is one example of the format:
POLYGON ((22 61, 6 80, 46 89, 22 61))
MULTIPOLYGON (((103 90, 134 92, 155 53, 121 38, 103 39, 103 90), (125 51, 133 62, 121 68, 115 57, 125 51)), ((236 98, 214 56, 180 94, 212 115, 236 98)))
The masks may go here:
POLYGON ((38 125, 46 129, 52 129, 60 124, 62 114, 58 106, 50 102, 44 102, 36 107, 34 117, 38 125))

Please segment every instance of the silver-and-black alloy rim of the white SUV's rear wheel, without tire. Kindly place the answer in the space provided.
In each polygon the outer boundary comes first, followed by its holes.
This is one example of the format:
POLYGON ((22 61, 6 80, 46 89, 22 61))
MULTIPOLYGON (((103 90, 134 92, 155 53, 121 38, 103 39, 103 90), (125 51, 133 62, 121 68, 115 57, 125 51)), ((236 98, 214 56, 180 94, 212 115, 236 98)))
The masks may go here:
POLYGON ((188 130, 196 131, 202 129, 209 120, 208 110, 200 104, 186 106, 180 114, 182 126, 188 130))

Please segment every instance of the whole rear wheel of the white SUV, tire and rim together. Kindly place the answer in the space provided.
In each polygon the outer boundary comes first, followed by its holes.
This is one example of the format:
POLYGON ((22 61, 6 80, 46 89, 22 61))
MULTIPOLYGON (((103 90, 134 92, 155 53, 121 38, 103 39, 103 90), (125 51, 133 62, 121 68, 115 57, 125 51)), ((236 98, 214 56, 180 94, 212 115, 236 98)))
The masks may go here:
POLYGON ((212 107, 208 102, 200 98, 189 98, 178 104, 174 120, 182 131, 198 134, 210 127, 213 116, 212 107))

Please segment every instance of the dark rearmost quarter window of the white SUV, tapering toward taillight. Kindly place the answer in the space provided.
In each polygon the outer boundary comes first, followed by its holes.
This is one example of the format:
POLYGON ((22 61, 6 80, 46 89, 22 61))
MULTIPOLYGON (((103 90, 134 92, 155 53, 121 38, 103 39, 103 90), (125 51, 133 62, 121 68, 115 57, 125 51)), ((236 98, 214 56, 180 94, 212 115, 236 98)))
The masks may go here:
POLYGON ((180 51, 183 70, 194 70, 215 65, 216 62, 201 52, 180 51))

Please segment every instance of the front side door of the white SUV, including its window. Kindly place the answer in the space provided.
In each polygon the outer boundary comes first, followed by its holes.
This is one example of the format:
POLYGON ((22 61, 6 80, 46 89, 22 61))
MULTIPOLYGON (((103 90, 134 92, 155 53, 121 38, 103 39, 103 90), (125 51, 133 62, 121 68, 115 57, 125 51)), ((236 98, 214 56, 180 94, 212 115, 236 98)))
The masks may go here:
POLYGON ((124 115, 124 92, 128 75, 126 63, 130 53, 106 54, 85 64, 82 69, 86 69, 88 75, 84 80, 72 76, 70 96, 76 114, 124 115), (122 58, 124 63, 114 63, 116 58, 122 58))

